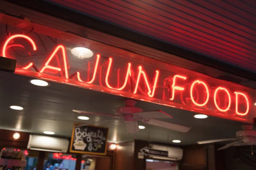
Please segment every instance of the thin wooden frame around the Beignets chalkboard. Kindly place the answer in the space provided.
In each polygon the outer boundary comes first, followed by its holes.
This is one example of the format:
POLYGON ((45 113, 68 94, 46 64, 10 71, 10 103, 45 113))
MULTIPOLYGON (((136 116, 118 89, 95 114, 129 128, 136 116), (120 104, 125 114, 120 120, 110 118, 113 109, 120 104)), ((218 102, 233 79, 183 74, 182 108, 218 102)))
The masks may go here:
POLYGON ((88 126, 88 127, 97 127, 97 128, 107 129, 107 136, 106 136, 106 144, 105 144, 105 152, 104 153, 72 150, 72 145, 73 145, 73 141, 74 141, 74 133, 75 133, 75 128, 76 128, 77 125, 82 125, 82 124, 74 123, 74 125, 73 125, 72 136, 71 136, 71 140, 70 140, 70 149, 69 149, 70 153, 81 153, 81 154, 90 154, 90 155, 106 155, 107 151, 108 151, 108 130, 109 130, 109 128, 108 127, 102 127, 102 126, 84 125, 84 126, 88 126))

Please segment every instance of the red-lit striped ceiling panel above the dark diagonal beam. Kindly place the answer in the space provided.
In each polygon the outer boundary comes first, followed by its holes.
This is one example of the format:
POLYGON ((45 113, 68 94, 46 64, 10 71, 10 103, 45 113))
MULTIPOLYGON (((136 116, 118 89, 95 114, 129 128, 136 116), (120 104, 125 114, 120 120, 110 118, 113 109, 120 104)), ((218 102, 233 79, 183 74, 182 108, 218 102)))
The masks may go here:
POLYGON ((48 0, 256 72, 256 0, 48 0))

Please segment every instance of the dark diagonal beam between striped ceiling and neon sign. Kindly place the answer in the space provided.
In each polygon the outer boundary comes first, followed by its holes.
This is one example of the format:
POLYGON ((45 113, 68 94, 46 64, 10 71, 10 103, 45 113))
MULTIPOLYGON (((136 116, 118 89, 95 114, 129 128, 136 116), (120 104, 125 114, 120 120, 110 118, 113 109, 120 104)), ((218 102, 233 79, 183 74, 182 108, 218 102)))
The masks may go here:
POLYGON ((179 48, 174 45, 170 45, 166 42, 160 40, 155 40, 153 38, 144 36, 142 34, 136 33, 134 31, 129 31, 127 29, 114 26, 112 24, 106 23, 101 20, 96 20, 92 17, 85 16, 79 12, 71 11, 67 8, 63 8, 52 3, 45 2, 43 0, 5 0, 17 5, 31 8, 35 11, 42 12, 44 14, 51 15, 53 17, 60 18, 62 20, 67 20, 78 25, 91 28, 97 31, 104 32, 116 37, 120 37, 125 40, 129 40, 141 45, 148 46, 160 51, 164 51, 169 54, 176 55, 185 59, 189 59, 194 62, 198 62, 203 65, 207 65, 212 68, 217 68, 221 71, 228 72, 240 77, 244 77, 253 81, 256 81, 256 76, 253 72, 238 68, 236 66, 218 61, 216 59, 208 58, 200 54, 179 48))

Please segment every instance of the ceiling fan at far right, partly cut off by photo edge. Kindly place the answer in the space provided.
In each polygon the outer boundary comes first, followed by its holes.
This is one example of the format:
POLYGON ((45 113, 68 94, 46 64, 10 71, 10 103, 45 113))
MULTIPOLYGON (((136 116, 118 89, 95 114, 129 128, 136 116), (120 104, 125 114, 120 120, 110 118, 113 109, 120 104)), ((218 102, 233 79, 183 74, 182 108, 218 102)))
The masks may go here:
POLYGON ((236 132, 236 138, 198 141, 198 144, 234 141, 229 144, 226 144, 224 147, 218 148, 218 150, 227 149, 228 147, 231 146, 256 145, 256 131, 253 130, 253 125, 242 125, 241 127, 243 130, 239 130, 236 132))

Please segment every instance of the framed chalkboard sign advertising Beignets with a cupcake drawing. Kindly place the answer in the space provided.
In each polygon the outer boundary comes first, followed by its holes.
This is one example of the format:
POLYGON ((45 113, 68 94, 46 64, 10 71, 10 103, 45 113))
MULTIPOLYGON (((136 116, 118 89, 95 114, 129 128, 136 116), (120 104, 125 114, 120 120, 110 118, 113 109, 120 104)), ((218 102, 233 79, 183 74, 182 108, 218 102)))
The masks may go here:
POLYGON ((70 152, 105 155, 107 139, 107 127, 75 124, 70 142, 70 152))

